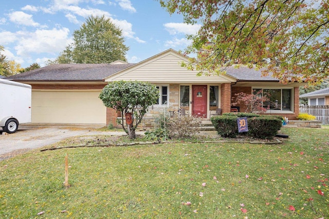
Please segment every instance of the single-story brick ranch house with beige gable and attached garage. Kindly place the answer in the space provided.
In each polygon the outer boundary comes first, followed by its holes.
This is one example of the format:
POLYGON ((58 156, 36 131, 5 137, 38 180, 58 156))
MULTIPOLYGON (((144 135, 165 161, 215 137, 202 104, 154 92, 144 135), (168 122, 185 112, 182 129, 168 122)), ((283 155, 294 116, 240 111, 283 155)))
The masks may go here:
POLYGON ((188 57, 169 49, 137 64, 59 64, 7 79, 32 85, 32 123, 115 125, 117 112, 104 107, 98 95, 108 82, 120 80, 147 81, 159 88, 158 104, 150 107, 148 118, 167 108, 209 119, 216 108, 230 112, 234 94, 257 89, 271 93, 268 114, 294 120, 299 113, 299 83, 279 84, 278 79, 261 77, 260 71, 247 67, 196 76, 196 71, 181 67, 182 61, 188 62, 188 57))

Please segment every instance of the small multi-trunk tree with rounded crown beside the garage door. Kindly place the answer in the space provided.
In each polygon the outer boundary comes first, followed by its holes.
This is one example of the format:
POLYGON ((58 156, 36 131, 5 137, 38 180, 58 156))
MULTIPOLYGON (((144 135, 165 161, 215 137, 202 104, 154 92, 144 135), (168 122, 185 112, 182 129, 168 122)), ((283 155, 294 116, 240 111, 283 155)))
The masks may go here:
POLYGON ((136 138, 135 130, 142 121, 148 107, 157 103, 159 91, 149 82, 118 81, 108 83, 99 95, 106 107, 121 112, 121 125, 131 139, 136 138), (132 124, 126 127, 123 118, 132 114, 132 124))

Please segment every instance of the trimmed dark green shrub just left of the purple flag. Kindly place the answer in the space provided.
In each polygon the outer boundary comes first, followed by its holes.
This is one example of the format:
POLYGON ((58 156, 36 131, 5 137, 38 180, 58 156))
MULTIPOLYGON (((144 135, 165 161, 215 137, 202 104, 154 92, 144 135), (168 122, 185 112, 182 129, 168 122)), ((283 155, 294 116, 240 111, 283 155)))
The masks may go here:
POLYGON ((222 137, 236 137, 237 123, 236 115, 218 115, 211 117, 210 121, 215 127, 216 131, 222 137))

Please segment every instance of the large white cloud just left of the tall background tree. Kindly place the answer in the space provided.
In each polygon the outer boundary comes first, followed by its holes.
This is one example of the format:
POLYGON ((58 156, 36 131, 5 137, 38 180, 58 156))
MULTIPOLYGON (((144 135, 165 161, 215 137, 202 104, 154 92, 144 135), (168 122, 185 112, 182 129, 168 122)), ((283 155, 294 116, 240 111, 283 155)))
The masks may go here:
POLYGON ((30 56, 30 53, 57 54, 70 43, 69 29, 36 30, 35 32, 21 31, 17 34, 24 36, 17 41, 15 50, 19 56, 30 56))

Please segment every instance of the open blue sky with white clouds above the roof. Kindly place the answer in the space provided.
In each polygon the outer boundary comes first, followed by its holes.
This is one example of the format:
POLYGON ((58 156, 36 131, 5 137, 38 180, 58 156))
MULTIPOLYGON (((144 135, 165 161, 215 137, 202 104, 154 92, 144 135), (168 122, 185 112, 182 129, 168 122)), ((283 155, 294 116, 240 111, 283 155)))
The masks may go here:
POLYGON ((90 15, 105 15, 122 29, 130 63, 169 48, 184 50, 190 43, 186 34, 199 28, 183 24, 181 15, 170 15, 155 0, 2 0, 0 5, 1 53, 23 68, 56 58, 90 15))

